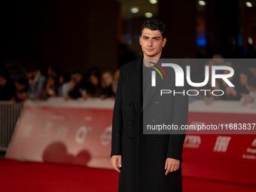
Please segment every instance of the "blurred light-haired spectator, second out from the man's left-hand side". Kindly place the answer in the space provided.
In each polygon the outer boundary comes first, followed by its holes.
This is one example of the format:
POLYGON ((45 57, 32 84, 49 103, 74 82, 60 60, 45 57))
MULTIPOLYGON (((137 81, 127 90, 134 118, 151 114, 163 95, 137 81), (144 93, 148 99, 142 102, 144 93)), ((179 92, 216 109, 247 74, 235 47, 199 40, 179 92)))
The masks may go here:
POLYGON ((111 97, 114 98, 115 93, 113 92, 113 75, 110 71, 102 73, 102 90, 100 97, 102 99, 111 97))

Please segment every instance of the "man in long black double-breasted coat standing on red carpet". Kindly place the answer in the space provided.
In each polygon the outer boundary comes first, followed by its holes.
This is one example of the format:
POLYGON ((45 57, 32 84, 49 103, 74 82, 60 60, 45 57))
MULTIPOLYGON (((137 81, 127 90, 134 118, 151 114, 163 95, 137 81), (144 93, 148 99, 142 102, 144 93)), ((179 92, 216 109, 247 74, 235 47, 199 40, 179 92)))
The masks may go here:
MULTIPOLYGON (((150 92, 142 88, 151 82, 150 78, 143 76, 148 70, 145 60, 154 59, 157 63, 158 59, 163 58, 162 49, 166 44, 164 24, 158 20, 145 21, 139 42, 143 57, 121 66, 114 102, 111 163, 120 174, 118 191, 180 192, 185 132, 144 134, 143 129, 148 120, 151 120, 151 124, 163 123, 159 121, 160 115, 157 115, 163 109, 165 117, 162 120, 166 120, 165 123, 179 127, 187 125, 187 96, 160 97, 160 83, 157 83, 154 94, 150 96, 150 92)), ((174 71, 168 78, 172 82, 169 88, 177 90, 174 71)), ((157 82, 161 82, 159 78, 157 82)))

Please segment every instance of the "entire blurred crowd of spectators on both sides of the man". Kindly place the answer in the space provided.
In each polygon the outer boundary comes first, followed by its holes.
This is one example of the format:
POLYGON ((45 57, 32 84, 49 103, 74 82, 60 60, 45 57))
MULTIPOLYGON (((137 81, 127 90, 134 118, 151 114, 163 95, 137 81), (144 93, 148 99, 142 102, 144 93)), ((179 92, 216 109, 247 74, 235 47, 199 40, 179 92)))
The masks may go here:
MULTIPOLYGON (((241 105, 248 105, 251 108, 256 107, 256 67, 245 66, 241 63, 232 63, 220 54, 215 54, 213 59, 209 59, 200 66, 194 66, 194 75, 191 81, 201 83, 205 80, 205 66, 230 66, 235 74, 229 78, 229 81, 235 86, 230 87, 222 79, 217 78, 215 87, 212 87, 211 76, 209 82, 204 87, 191 87, 191 90, 197 90, 197 96, 190 96, 190 102, 203 99, 206 104, 214 100, 237 100, 241 105), (200 70, 201 69, 201 70, 200 70), (200 90, 211 90, 206 93, 200 90), (215 96, 212 95, 215 90, 215 96), (220 91, 223 90, 223 96, 220 91)), ((193 66, 192 66, 193 68, 193 66)), ((228 70, 221 70, 219 73, 229 74, 228 70)), ((211 71, 209 72, 211 74, 211 71)), ((86 74, 79 70, 59 74, 56 67, 50 66, 47 69, 47 75, 43 75, 37 66, 26 67, 26 78, 18 78, 16 81, 8 78, 8 73, 0 72, 0 100, 12 100, 22 102, 26 99, 46 100, 49 97, 62 97, 65 100, 100 97, 102 99, 114 99, 117 91, 117 81, 119 78, 119 69, 115 72, 100 72, 99 69, 90 69, 86 74)))

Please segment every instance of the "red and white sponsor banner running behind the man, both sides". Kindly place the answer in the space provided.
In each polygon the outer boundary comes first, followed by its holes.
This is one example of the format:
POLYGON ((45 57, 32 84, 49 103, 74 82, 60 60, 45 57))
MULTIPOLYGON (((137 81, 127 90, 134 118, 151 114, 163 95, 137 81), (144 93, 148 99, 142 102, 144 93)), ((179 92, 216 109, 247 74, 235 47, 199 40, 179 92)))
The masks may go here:
MULTIPOLYGON (((256 111, 233 111, 232 106, 236 104, 230 103, 230 111, 207 111, 203 102, 195 102, 190 105, 188 125, 256 123, 256 111), (202 110, 194 108, 196 105, 202 105, 202 110)), ((111 99, 28 101, 6 157, 112 169, 113 105, 111 99)), ((187 130, 182 163, 184 176, 256 184, 255 171, 255 135, 203 134, 203 130, 187 130)))

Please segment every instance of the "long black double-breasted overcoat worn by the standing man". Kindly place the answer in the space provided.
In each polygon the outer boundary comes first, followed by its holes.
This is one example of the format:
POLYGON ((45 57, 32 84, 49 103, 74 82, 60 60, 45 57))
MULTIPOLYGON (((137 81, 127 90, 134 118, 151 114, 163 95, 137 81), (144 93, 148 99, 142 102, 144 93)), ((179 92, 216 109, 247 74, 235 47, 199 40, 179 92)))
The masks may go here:
MULTIPOLYGON (((166 123, 174 123, 178 126, 187 125, 188 99, 187 96, 169 96, 163 102, 156 87, 156 93, 144 101, 142 98, 142 60, 143 58, 140 58, 120 67, 114 101, 111 141, 111 157, 112 155, 122 156, 118 191, 180 192, 182 191, 181 162, 185 134, 144 135, 142 120, 143 112, 152 111, 147 110, 146 106, 149 108, 154 106, 148 103, 155 103, 158 106, 166 106, 165 114, 169 115, 169 122, 166 123), (144 102, 143 106, 142 102, 144 102), (166 157, 180 160, 179 169, 169 172, 168 175, 165 175, 164 169, 166 157)), ((168 78, 171 78, 173 82, 169 85, 169 89, 174 90, 174 71, 168 78)), ((157 113, 147 114, 150 119, 153 117, 152 123, 156 123, 156 119, 159 118, 154 115, 157 113)))

